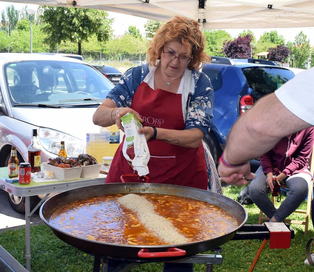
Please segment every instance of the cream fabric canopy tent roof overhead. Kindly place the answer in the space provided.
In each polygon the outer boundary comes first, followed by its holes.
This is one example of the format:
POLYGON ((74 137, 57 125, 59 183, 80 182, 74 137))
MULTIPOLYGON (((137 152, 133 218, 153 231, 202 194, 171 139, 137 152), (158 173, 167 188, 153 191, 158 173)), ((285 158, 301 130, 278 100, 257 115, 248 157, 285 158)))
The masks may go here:
POLYGON ((175 15, 182 15, 198 20, 201 28, 211 29, 314 26, 313 0, 13 0, 12 2, 102 9, 162 22, 175 15))

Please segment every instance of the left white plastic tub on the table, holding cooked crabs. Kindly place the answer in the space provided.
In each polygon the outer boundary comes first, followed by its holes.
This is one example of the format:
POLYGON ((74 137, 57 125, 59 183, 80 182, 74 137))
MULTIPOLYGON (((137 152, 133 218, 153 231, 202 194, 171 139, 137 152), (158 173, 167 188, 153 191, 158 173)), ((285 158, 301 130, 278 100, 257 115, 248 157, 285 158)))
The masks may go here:
POLYGON ((72 168, 60 168, 43 162, 42 167, 44 170, 51 171, 53 177, 63 181, 77 180, 81 177, 82 166, 72 168))

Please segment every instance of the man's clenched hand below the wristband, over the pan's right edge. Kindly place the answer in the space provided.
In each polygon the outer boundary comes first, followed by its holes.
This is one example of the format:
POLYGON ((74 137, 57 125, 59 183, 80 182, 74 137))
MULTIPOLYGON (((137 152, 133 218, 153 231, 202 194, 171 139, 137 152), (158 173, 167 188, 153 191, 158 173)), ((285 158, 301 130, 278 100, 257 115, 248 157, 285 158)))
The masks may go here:
POLYGON ((255 178, 255 174, 251 172, 249 162, 235 168, 227 167, 222 162, 219 162, 217 170, 219 177, 229 184, 245 185, 247 180, 255 178))

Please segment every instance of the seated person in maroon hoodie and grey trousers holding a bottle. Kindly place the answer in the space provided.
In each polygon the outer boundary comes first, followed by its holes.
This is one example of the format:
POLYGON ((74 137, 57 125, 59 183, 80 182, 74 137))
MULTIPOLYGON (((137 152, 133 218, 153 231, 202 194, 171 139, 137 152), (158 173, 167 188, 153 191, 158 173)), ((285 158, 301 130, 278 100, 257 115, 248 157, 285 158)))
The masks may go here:
POLYGON ((282 138, 273 149, 261 156, 261 166, 249 186, 249 194, 270 222, 282 222, 306 197, 311 182, 307 167, 313 143, 314 127, 311 127, 282 138), (277 211, 267 195, 273 192, 273 173, 277 183, 281 182, 290 190, 277 211))

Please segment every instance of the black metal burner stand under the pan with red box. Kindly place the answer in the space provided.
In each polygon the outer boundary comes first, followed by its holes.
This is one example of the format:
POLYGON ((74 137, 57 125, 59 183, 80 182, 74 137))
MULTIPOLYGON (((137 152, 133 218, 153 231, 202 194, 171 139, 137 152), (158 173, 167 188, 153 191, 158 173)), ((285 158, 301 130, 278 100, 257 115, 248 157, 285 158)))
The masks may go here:
MULTIPOLYGON (((263 250, 267 240, 269 239, 269 248, 289 248, 290 239, 295 237, 294 230, 290 229, 289 224, 285 223, 264 223, 262 225, 243 225, 235 234, 231 240, 253 240, 259 239, 264 240, 261 245, 252 265, 256 264, 257 259, 263 250), (258 255, 259 254, 259 255, 258 255)), ((119 260, 121 263, 117 265, 111 272, 127 272, 132 268, 148 262, 169 262, 169 263, 189 263, 189 264, 206 264, 206 272, 213 271, 214 264, 222 264, 222 256, 219 255, 223 251, 221 247, 211 249, 214 254, 196 254, 180 259, 164 259, 164 260, 153 260, 153 259, 125 259, 125 258, 113 258, 109 256, 95 255, 94 269, 93 272, 108 271, 108 260, 119 260)), ((249 271, 254 269, 254 266, 249 271)))

